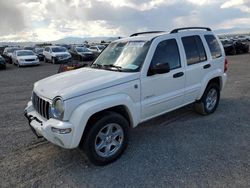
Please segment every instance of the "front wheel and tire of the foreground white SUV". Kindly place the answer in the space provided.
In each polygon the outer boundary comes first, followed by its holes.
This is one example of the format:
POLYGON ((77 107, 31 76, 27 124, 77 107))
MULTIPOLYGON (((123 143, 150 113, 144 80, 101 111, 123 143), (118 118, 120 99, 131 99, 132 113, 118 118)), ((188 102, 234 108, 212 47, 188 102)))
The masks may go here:
POLYGON ((81 148, 93 164, 107 165, 117 160, 125 151, 128 129, 129 123, 122 115, 105 112, 87 132, 81 148))

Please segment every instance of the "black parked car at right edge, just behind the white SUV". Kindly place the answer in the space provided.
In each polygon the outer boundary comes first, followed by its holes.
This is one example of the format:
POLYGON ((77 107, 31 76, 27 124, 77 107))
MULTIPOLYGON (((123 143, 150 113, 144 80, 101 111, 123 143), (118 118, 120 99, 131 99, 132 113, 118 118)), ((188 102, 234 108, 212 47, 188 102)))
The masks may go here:
POLYGON ((249 45, 239 41, 222 42, 226 55, 236 55, 249 52, 249 45))

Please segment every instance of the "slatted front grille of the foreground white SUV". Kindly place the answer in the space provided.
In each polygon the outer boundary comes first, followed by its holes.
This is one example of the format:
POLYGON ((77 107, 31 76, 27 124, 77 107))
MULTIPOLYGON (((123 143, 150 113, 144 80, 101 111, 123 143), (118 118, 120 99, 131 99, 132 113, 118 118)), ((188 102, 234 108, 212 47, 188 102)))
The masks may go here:
POLYGON ((32 95, 34 109, 44 118, 49 119, 49 102, 41 99, 35 92, 32 95))

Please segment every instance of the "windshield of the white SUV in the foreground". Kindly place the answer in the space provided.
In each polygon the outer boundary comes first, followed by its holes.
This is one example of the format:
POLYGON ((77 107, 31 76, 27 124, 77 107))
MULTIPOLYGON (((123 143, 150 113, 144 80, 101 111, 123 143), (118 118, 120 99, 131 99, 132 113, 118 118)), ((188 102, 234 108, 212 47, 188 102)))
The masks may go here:
POLYGON ((99 55, 91 67, 137 72, 144 62, 150 43, 150 41, 111 43, 105 48, 103 53, 99 55))

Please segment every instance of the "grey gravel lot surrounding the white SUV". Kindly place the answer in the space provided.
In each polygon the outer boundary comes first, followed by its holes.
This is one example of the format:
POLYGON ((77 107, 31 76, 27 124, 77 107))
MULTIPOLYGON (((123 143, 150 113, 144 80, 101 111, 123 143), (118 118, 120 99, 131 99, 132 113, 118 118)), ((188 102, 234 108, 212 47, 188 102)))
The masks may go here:
POLYGON ((115 163, 96 167, 78 149, 38 140, 23 109, 33 83, 58 65, 0 71, 0 187, 250 187, 250 54, 228 57, 217 111, 192 106, 131 131, 115 163))

